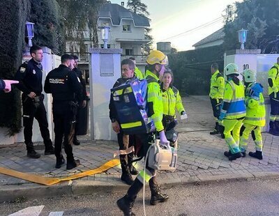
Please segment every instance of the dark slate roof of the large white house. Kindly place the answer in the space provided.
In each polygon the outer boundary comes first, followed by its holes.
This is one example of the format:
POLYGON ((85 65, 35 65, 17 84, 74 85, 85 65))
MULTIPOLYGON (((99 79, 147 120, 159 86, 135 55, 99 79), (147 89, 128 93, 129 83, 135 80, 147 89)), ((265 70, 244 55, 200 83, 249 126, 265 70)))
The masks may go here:
POLYGON ((99 10, 99 18, 110 18, 114 26, 119 26, 122 19, 133 20, 135 26, 150 26, 146 17, 137 15, 117 3, 105 3, 99 10))

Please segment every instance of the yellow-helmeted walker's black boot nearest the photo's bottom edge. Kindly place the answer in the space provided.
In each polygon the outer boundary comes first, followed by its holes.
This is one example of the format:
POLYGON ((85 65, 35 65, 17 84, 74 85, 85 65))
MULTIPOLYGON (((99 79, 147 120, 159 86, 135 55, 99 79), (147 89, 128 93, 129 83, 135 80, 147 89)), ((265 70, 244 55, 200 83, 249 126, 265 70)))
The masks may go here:
POLYGON ((142 186, 143 185, 140 180, 136 178, 133 185, 130 186, 127 194, 116 202, 119 209, 123 211, 124 216, 135 215, 132 213, 132 208, 134 206, 135 199, 137 198, 137 194, 142 189, 142 186))

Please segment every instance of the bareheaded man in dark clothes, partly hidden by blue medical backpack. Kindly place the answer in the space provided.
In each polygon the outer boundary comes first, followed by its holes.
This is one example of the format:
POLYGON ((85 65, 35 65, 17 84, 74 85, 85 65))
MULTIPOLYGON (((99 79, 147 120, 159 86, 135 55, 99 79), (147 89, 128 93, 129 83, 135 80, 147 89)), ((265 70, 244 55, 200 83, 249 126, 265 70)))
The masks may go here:
MULTIPOLYGON (((120 86, 121 84, 126 83, 127 81, 133 81, 135 77, 135 63, 131 59, 124 59, 121 61, 121 73, 122 76, 116 80, 113 88, 120 86)), ((124 134, 121 130, 121 127, 119 125, 119 120, 116 113, 116 108, 114 106, 112 94, 110 95, 110 120, 112 121, 112 129, 114 132, 117 133, 117 141, 119 144, 119 150, 125 150, 129 147, 130 142, 132 141, 132 137, 130 137, 128 134, 124 134)), ((122 175, 121 180, 123 180, 128 185, 132 185, 134 180, 131 176, 131 173, 133 175, 137 175, 137 170, 135 167, 133 167, 132 164, 129 162, 133 160, 133 153, 130 153, 129 155, 119 155, 120 163, 121 163, 121 169, 122 169, 122 175)))

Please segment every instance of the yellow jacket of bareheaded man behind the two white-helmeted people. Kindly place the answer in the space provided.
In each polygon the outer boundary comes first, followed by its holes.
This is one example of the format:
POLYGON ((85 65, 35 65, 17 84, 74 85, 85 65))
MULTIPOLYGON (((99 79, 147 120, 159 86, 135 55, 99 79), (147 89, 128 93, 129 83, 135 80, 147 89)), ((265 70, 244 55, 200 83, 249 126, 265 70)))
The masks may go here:
POLYGON ((224 90, 225 90, 225 79, 221 75, 219 70, 216 70, 216 72, 214 72, 213 75, 211 76, 209 96, 212 99, 223 99, 224 90))

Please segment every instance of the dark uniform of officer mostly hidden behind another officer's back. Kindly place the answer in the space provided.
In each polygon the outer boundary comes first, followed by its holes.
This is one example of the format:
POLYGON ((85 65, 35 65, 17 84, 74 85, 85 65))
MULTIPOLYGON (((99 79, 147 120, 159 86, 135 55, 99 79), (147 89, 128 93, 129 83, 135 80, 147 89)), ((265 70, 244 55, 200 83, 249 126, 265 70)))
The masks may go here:
MULTIPOLYGON (((80 79, 80 84, 82 85, 82 89, 81 89, 82 98, 81 98, 80 101, 78 101, 78 99, 76 99, 78 104, 79 104, 79 107, 77 109, 77 117, 76 117, 77 120, 78 120, 80 109, 84 109, 82 107, 82 102, 83 102, 83 100, 87 100, 88 98, 87 98, 87 94, 86 94, 86 84, 85 84, 85 81, 83 79, 82 72, 78 68, 74 68, 73 71, 75 71, 75 74, 80 79)), ((79 124, 80 124, 79 121, 77 121, 77 123, 75 124, 74 144, 77 144, 77 145, 80 144, 79 141, 77 140, 77 133, 78 133, 79 124)))

